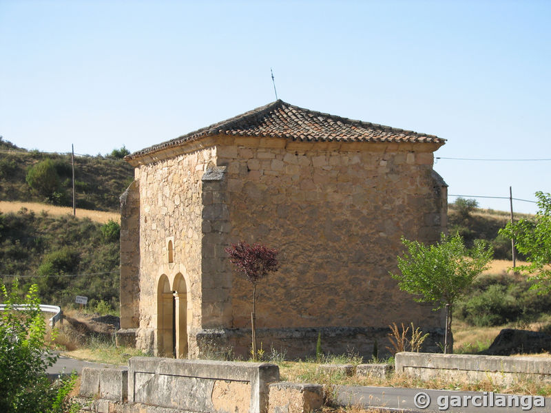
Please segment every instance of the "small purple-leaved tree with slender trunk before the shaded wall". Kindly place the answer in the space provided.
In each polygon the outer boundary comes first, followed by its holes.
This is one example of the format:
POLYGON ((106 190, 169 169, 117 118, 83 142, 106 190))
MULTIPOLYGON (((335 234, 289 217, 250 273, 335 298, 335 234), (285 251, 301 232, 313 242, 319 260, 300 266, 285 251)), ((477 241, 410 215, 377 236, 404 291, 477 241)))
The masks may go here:
POLYGON ((231 244, 225 251, 229 255, 229 262, 235 266, 238 273, 253 284, 253 312, 251 313, 251 332, 253 341, 253 360, 256 361, 256 284, 269 273, 278 271, 278 251, 262 244, 249 245, 246 242, 231 244))

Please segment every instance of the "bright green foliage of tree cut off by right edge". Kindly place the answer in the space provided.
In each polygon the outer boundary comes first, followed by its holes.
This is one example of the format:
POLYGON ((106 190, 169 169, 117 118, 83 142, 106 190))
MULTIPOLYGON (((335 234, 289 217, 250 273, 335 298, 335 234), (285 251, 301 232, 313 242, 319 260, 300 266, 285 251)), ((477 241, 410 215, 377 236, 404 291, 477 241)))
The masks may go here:
POLYGON ((530 263, 518 266, 519 271, 532 275, 536 281, 533 288, 541 288, 541 292, 550 292, 551 286, 551 194, 538 191, 538 212, 533 219, 522 219, 508 223, 499 230, 501 235, 514 238, 517 250, 526 255, 530 263))

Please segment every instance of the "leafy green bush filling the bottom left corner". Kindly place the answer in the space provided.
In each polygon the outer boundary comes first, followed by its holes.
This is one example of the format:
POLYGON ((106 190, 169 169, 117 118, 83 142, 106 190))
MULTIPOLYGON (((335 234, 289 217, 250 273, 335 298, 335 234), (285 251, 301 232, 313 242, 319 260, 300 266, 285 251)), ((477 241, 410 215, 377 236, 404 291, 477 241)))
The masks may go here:
POLYGON ((45 321, 37 286, 19 299, 17 282, 8 292, 0 285, 6 308, 0 311, 0 412, 64 413, 78 406, 67 401, 76 374, 50 383, 46 369, 57 356, 45 339, 45 321), (17 310, 17 308, 23 309, 17 310))

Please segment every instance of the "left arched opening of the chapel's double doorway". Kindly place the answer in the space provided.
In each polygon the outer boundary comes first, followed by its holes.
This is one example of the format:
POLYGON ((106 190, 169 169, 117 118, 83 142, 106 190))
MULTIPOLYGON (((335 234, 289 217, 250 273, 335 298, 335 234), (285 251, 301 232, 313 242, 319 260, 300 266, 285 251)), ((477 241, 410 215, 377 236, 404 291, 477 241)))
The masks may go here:
POLYGON ((157 355, 174 357, 174 293, 163 274, 157 285, 157 355))

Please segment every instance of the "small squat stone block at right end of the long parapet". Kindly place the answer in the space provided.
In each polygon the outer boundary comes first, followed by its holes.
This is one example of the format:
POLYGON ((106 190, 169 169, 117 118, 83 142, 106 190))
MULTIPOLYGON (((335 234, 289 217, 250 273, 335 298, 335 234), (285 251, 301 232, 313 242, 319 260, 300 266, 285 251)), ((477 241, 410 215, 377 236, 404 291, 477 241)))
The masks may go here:
POLYGON ((270 385, 268 413, 309 413, 323 407, 324 391, 320 384, 289 383, 270 385))

